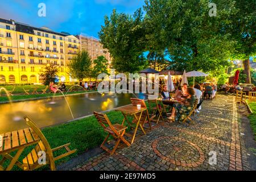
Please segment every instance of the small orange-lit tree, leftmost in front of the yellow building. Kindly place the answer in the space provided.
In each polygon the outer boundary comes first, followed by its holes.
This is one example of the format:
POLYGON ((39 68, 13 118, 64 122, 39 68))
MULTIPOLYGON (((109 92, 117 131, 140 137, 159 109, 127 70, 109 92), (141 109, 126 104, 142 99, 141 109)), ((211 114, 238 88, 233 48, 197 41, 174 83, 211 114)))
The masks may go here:
POLYGON ((44 85, 49 85, 49 82, 56 81, 56 77, 59 73, 59 67, 56 67, 55 64, 47 64, 43 69, 42 73, 40 73, 40 77, 43 80, 44 85))

